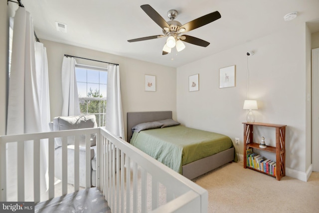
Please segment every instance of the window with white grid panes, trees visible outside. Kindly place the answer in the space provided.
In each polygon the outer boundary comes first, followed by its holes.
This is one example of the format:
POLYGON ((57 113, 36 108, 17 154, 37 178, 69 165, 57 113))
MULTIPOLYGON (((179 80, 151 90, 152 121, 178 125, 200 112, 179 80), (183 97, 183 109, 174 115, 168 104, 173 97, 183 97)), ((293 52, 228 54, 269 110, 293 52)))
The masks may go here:
POLYGON ((77 64, 75 73, 81 115, 94 114, 98 127, 105 126, 107 69, 77 64))

